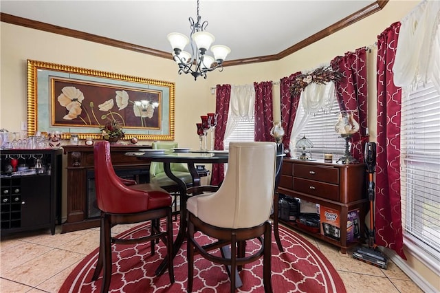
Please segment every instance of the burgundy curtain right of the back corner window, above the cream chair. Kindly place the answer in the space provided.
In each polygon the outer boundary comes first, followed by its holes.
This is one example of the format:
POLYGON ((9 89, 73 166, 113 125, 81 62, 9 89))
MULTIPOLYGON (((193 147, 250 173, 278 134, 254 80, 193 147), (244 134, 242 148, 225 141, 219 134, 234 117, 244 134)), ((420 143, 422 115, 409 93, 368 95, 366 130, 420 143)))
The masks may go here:
POLYGON ((272 110, 272 81, 254 83, 255 89, 255 133, 256 142, 270 142, 274 140, 270 135, 274 122, 272 110))

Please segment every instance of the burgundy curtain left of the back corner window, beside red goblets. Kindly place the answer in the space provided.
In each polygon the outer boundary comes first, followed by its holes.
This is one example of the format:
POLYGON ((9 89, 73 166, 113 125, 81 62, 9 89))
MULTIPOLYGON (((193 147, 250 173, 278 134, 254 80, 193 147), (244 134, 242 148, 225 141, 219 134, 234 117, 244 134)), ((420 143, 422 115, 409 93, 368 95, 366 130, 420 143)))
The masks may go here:
MULTIPOLYGON (((223 150, 223 139, 225 138, 226 122, 228 122, 229 102, 231 98, 231 85, 217 85, 215 97, 215 113, 217 126, 215 127, 214 149, 223 150)), ((225 166, 223 164, 212 164, 211 184, 219 185, 223 182, 225 166)))

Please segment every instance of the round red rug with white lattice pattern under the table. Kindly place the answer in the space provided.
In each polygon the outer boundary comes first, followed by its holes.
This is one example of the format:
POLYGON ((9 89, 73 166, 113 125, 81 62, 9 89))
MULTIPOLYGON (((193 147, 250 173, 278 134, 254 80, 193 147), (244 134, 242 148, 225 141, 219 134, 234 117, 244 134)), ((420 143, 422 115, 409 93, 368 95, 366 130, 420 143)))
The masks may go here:
MULTIPOLYGON (((177 235, 179 221, 174 222, 177 235)), ((120 236, 131 238, 148 233, 149 224, 141 224, 123 232, 120 236)), ((199 241, 210 243, 212 239, 198 235, 199 241)), ((295 232, 280 226, 280 237, 284 252, 279 252, 272 235, 272 287, 278 292, 346 292, 342 279, 327 258, 309 241, 295 232)), ((203 243, 203 242, 202 242, 203 243)), ((248 241, 246 248, 258 249, 259 241, 248 241)), ((162 276, 155 276, 166 248, 162 241, 150 254, 150 243, 133 245, 113 244, 113 268, 110 292, 186 292, 188 265, 186 263, 186 241, 174 259, 175 283, 170 285, 168 270, 162 276)), ((102 274, 97 281, 91 281, 98 248, 81 261, 67 277, 59 292, 100 292, 102 274)), ((229 292, 228 274, 223 265, 214 264, 195 256, 195 280, 193 292, 229 292)), ((239 273, 243 285, 237 292, 264 292, 263 258, 244 266, 239 273)))

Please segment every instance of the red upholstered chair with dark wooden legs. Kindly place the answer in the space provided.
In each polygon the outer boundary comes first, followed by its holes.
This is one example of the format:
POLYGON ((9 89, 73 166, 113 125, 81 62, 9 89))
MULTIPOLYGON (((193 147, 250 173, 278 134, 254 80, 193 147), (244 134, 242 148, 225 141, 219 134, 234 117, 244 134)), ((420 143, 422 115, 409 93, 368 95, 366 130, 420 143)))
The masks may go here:
POLYGON ((93 281, 104 268, 101 292, 108 292, 111 280, 111 243, 140 243, 151 241, 151 254, 155 242, 164 241, 168 254, 168 274, 174 283, 173 270, 173 222, 171 219, 171 196, 155 184, 135 184, 115 174, 110 158, 109 142, 97 142, 94 146, 96 202, 100 215, 99 257, 93 281), (159 219, 166 218, 166 230, 159 228, 159 219), (117 239, 111 236, 111 227, 117 224, 133 224, 151 221, 151 232, 140 239, 117 239))

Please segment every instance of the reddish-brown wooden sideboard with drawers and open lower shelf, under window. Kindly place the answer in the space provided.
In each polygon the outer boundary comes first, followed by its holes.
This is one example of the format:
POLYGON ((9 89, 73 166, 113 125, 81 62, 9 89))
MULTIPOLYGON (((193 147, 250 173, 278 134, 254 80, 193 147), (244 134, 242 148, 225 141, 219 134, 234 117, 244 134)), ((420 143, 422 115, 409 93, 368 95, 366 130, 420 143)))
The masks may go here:
POLYGON ((351 210, 359 210, 357 228, 361 238, 364 235, 364 218, 368 208, 364 164, 344 165, 286 158, 277 191, 288 197, 319 204, 320 208, 336 210, 339 213, 340 239, 322 235, 322 223, 319 232, 307 229, 296 221, 283 223, 340 247, 342 253, 349 246, 358 244, 358 241, 347 241, 347 217, 351 210))

